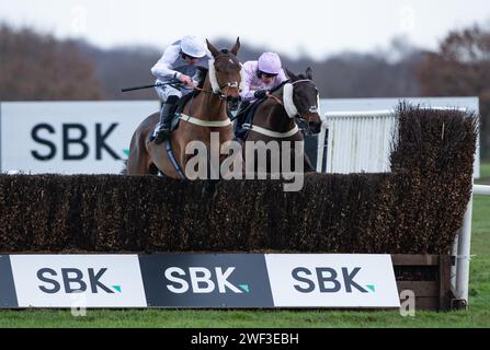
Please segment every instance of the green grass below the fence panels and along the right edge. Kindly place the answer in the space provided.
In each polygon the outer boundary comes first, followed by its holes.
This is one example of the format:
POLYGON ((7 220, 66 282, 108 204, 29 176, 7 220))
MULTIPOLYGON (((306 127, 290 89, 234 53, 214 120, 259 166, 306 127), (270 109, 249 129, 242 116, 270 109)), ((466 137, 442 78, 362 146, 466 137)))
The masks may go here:
MULTIPOLYGON (((490 164, 481 177, 490 183, 490 164)), ((73 317, 67 310, 23 310, 0 311, 0 327, 490 327, 490 197, 476 196, 472 214, 468 311, 403 317, 397 311, 89 310, 73 317)))

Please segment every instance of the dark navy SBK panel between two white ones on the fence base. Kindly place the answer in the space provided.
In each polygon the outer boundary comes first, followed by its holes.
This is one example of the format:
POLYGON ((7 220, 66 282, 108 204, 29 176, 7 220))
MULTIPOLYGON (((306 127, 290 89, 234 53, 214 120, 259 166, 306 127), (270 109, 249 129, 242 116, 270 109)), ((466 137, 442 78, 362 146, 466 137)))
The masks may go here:
POLYGON ((261 254, 139 256, 148 306, 274 307, 261 254))

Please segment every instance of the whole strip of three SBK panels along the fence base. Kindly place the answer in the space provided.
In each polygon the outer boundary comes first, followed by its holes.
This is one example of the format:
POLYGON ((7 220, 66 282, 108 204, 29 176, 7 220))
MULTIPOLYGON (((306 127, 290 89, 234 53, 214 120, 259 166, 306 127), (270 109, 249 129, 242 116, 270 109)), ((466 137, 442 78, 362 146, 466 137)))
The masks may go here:
POLYGON ((0 256, 0 307, 399 307, 389 255, 0 256))

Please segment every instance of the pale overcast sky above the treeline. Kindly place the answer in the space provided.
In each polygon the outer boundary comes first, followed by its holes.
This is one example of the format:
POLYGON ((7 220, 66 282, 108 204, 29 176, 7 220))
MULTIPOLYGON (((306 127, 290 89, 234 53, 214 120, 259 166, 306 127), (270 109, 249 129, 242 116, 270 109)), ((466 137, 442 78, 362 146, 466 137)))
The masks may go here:
POLYGON ((395 36, 434 49, 449 30, 490 25, 490 0, 0 0, 0 21, 102 47, 163 48, 183 34, 297 57, 386 48, 395 36))

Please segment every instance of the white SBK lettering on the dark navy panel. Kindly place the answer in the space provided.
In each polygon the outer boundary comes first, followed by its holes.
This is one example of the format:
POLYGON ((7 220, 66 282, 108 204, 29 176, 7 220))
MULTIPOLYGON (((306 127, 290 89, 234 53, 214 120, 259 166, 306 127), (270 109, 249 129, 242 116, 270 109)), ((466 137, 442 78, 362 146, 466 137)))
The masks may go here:
POLYGON ((170 282, 167 284, 167 289, 175 294, 186 293, 190 290, 193 293, 213 293, 216 288, 221 294, 228 291, 237 294, 248 293, 249 284, 238 284, 237 287, 228 281, 235 269, 235 267, 229 267, 223 271, 220 267, 216 267, 214 270, 205 267, 190 267, 186 271, 180 267, 169 267, 164 271, 164 277, 170 282))

